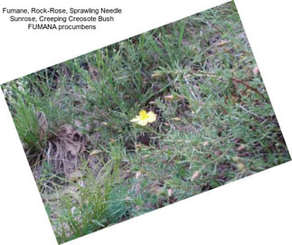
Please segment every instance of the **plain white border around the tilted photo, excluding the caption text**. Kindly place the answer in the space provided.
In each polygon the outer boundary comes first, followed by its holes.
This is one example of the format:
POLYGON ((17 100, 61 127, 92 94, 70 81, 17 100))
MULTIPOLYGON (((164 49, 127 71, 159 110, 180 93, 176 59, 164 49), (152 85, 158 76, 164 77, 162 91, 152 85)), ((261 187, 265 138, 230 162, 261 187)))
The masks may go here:
MULTIPOLYGON (((97 5, 8 1, 20 5, 97 5), (17 3, 18 2, 18 3, 17 3)), ((120 22, 99 33, 28 33, 1 17, 0 80, 12 80, 112 42, 201 12, 226 1, 99 1, 124 9, 120 22), (151 12, 152 11, 152 12, 151 12)), ((291 35, 289 0, 235 1, 268 95, 291 152, 291 35)), ((1 219, 3 244, 56 244, 3 95, 0 94, 1 219)), ((68 244, 292 244, 292 164, 280 165, 68 244)))

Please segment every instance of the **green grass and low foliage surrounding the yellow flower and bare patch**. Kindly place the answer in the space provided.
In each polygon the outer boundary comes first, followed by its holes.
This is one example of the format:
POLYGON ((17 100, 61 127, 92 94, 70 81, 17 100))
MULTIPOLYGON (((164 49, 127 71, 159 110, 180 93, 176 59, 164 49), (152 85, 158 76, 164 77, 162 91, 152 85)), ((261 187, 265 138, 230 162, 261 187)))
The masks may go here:
POLYGON ((288 161, 256 65, 228 3, 3 85, 58 241, 288 161), (46 158, 64 125, 86 136, 70 180, 46 158))

